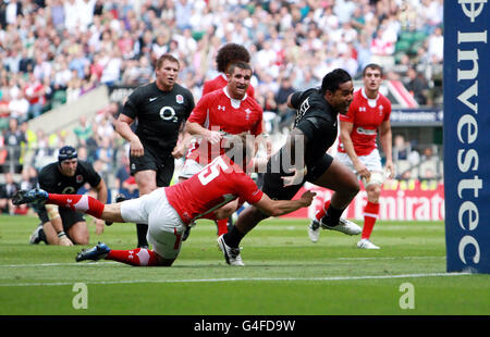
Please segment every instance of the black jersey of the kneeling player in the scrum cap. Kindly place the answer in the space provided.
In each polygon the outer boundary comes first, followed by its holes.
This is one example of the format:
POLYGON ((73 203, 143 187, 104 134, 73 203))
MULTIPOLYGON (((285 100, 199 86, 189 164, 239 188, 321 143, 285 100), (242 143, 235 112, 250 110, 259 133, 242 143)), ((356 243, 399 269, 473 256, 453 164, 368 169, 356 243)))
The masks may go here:
POLYGON ((81 160, 78 160, 75 175, 72 177, 61 174, 58 170, 58 162, 46 165, 38 177, 41 189, 59 195, 75 195, 85 183, 96 187, 100 184, 100 175, 94 170, 91 164, 81 160))

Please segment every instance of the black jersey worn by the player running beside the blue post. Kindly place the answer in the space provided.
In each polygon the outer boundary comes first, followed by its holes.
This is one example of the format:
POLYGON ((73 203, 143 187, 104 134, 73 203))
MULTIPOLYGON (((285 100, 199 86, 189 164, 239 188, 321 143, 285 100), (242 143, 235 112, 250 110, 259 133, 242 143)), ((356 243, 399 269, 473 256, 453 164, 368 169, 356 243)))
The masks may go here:
POLYGON ((301 129, 307 138, 305 163, 310 166, 335 142, 338 112, 316 88, 294 92, 291 104, 296 109, 294 127, 301 129))

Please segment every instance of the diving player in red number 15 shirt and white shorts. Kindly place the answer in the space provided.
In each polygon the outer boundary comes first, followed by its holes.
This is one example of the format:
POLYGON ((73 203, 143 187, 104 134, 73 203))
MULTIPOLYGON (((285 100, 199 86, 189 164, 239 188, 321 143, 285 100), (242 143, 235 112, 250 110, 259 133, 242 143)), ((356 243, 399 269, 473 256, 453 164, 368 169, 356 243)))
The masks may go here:
MULTIPOLYGON (((103 204, 89 196, 48 194, 40 189, 21 190, 12 202, 44 202, 69 208, 109 222, 148 224, 148 242, 152 251, 144 248, 111 250, 99 242, 79 252, 76 261, 113 260, 131 265, 170 266, 181 250, 185 228, 197 219, 217 219, 213 211, 235 199, 248 202, 270 216, 279 216, 308 207, 315 194, 306 191, 297 200, 272 200, 265 195, 244 172, 244 163, 254 152, 252 136, 235 135, 224 138, 228 151, 217 157, 192 178, 180 184, 162 187, 137 199, 103 204)), ((224 259, 241 264, 240 249, 220 244, 224 259)))

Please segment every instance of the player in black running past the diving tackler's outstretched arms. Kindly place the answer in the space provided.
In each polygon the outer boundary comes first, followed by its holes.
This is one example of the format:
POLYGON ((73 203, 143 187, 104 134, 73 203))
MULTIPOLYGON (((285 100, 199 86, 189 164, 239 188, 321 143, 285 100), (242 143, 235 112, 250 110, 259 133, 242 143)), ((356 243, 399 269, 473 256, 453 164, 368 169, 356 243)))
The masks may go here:
MULTIPOLYGON (((289 97, 289 107, 296 110, 294 128, 285 145, 270 158, 262 186, 264 192, 279 200, 292 199, 305 182, 332 189, 334 194, 321 226, 348 235, 362 232, 356 224, 341 219, 359 191, 359 183, 351 170, 326 152, 338 135, 338 113, 347 113, 353 92, 351 76, 339 68, 323 77, 319 89, 289 97)), ((218 238, 226 261, 240 255, 242 238, 267 217, 254 207, 240 214, 231 230, 218 238)))

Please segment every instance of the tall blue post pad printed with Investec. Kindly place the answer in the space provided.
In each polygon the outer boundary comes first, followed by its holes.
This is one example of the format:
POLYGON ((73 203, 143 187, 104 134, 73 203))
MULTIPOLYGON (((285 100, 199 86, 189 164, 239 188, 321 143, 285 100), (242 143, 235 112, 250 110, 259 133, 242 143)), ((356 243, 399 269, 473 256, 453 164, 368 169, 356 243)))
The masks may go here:
POLYGON ((448 272, 490 273, 490 2, 444 1, 448 272))

